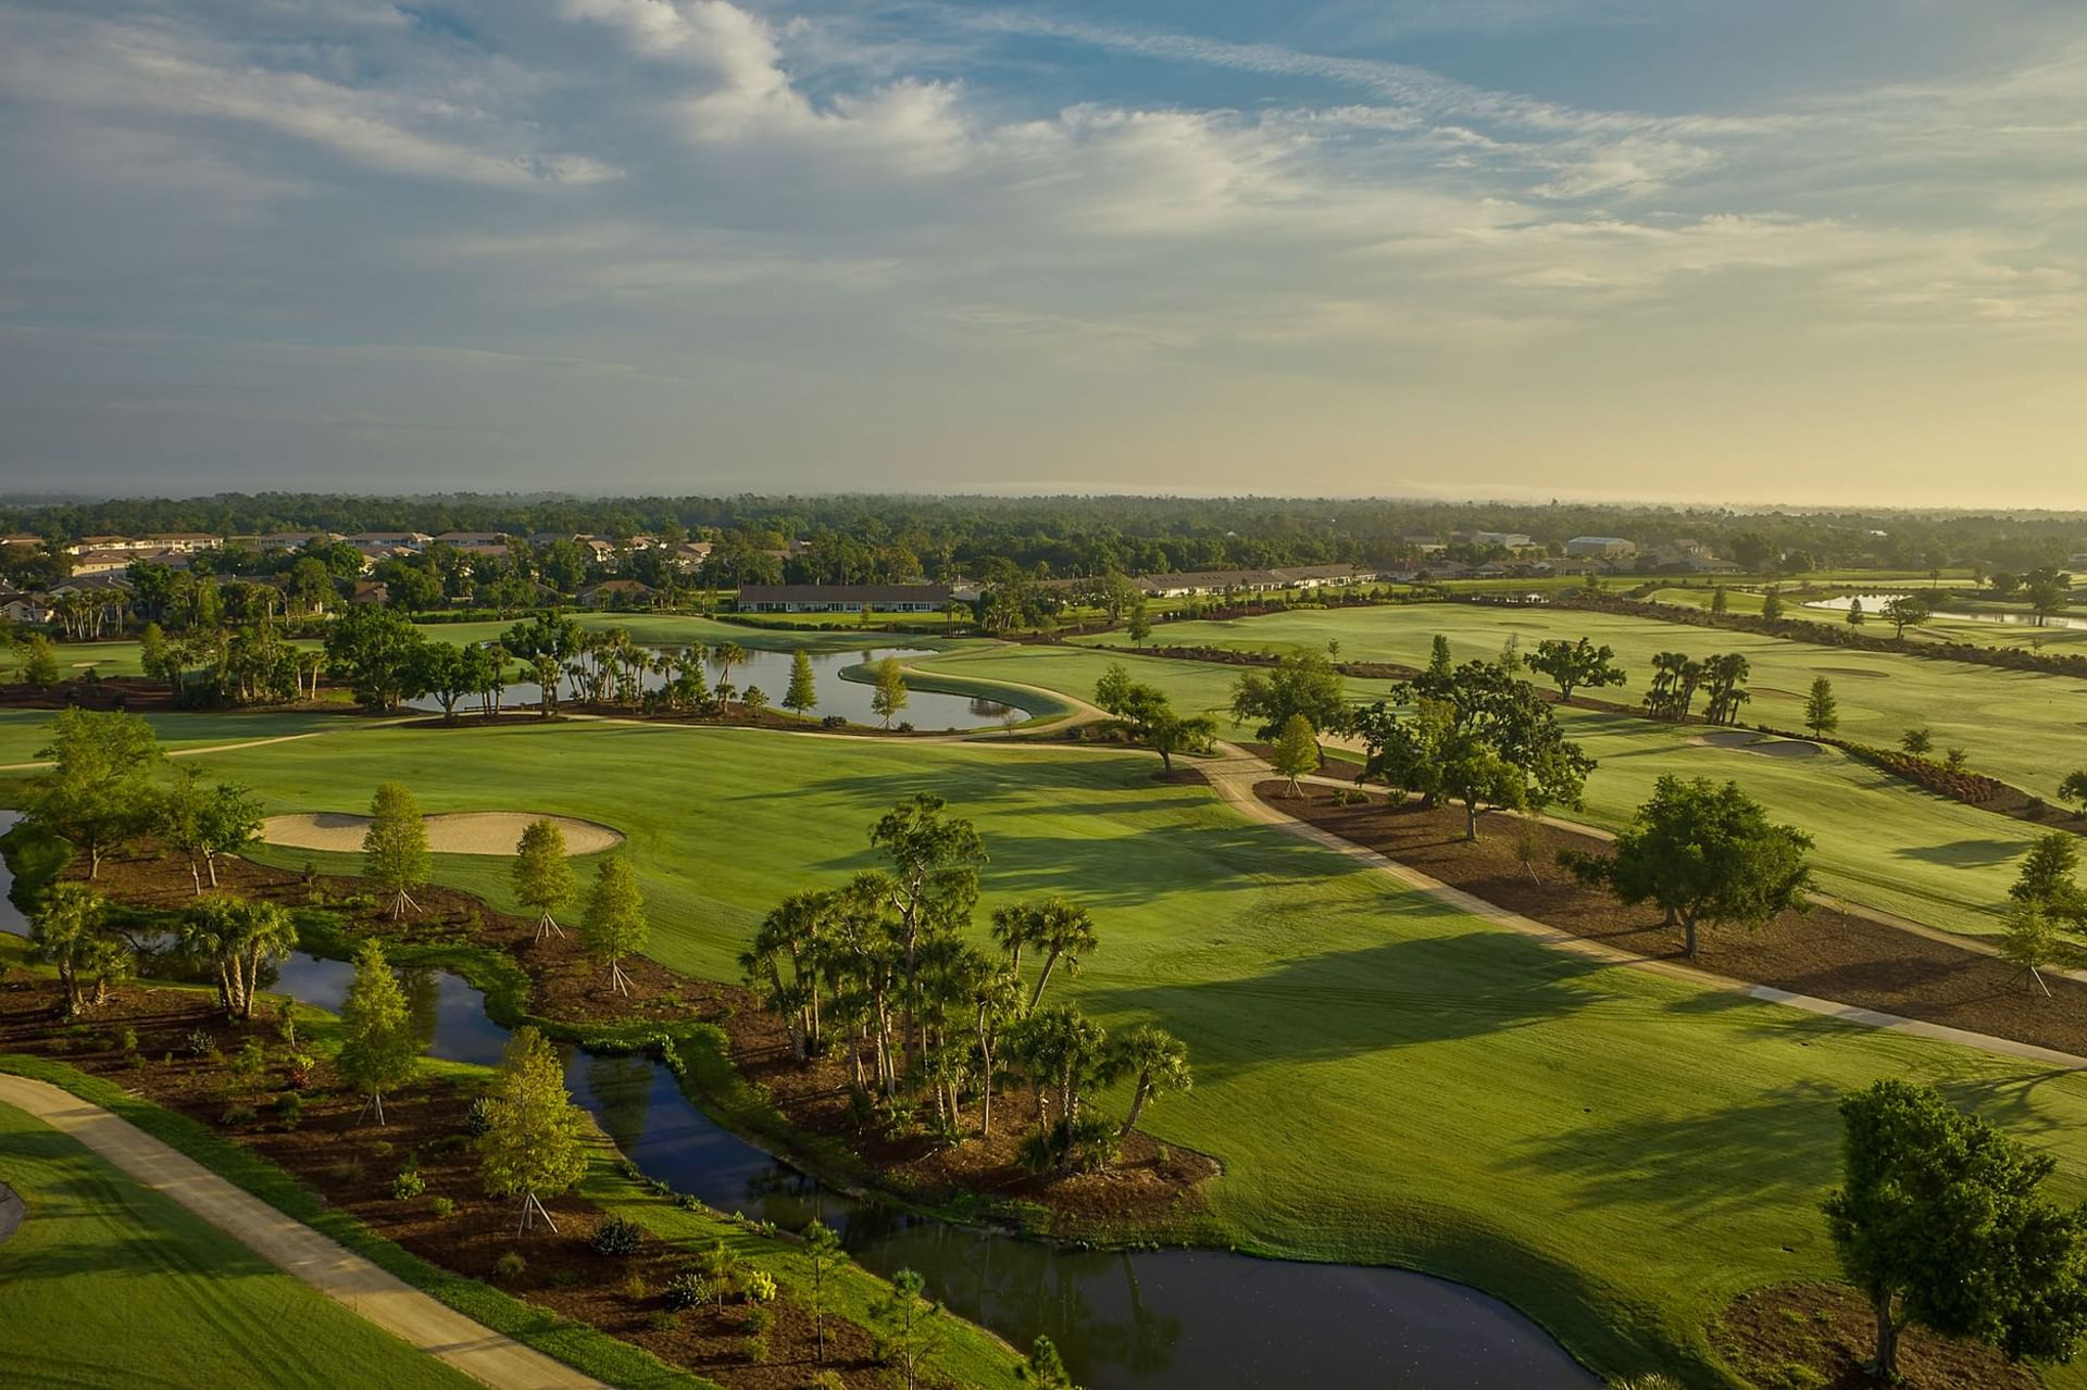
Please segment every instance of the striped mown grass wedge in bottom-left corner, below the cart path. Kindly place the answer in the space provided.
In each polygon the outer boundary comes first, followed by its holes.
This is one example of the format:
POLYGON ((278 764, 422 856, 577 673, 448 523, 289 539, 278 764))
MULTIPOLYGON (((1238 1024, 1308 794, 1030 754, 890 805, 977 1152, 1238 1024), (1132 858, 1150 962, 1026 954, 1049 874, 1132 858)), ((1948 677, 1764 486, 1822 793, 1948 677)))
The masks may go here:
POLYGON ((0 1244, 10 1386, 478 1384, 40 1119, 0 1106, 0 1175, 29 1206, 0 1244))

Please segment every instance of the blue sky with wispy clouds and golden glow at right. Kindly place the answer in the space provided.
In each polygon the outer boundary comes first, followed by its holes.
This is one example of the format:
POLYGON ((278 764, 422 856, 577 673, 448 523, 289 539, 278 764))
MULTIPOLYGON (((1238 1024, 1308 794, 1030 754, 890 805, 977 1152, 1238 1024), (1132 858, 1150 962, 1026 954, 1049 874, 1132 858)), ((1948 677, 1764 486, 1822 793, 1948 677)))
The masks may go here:
POLYGON ((0 490, 2087 507, 2079 0, 0 0, 0 490))

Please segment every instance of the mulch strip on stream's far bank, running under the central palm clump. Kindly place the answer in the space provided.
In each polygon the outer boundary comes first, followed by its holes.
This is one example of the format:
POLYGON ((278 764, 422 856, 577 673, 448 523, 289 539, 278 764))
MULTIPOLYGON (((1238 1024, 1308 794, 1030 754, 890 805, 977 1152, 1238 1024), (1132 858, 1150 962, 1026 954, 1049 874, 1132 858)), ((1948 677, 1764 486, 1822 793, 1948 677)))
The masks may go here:
MULTIPOLYGON (((1181 770, 1185 772, 1185 770, 1181 770)), ((1194 772, 1202 781, 1202 772, 1194 772)), ((77 868, 73 872, 79 872, 77 868)), ((221 885, 246 897, 284 906, 305 906, 313 891, 334 906, 365 891, 359 879, 319 877, 313 885, 296 872, 250 860, 221 860, 221 885)), ((96 887, 127 904, 179 910, 194 902, 188 862, 154 852, 102 860, 96 887)), ((831 1054, 814 1062, 791 1056, 789 1033, 764 1012, 760 998, 741 985, 678 975, 647 958, 626 958, 630 993, 603 987, 603 970, 580 950, 568 925, 566 937, 536 941, 532 918, 495 912, 482 900, 445 887, 417 891, 422 912, 405 922, 357 920, 357 929, 382 939, 413 943, 455 943, 467 939, 505 952, 528 977, 528 1010, 557 1023, 586 1027, 603 1023, 714 1023, 726 1035, 726 1052, 739 1073, 766 1087, 768 1102, 799 1133, 839 1140, 879 1181, 920 1202, 947 1202, 964 1194, 1041 1206, 1054 1229, 1106 1233, 1125 1225, 1156 1229, 1202 1208, 1200 1185, 1219 1165, 1194 1150, 1171 1148, 1133 1131, 1123 1156, 1106 1173, 1035 1177, 1016 1163, 1016 1142, 1033 1115, 1033 1092, 993 1092, 993 1135, 977 1135, 973 1098, 962 1115, 962 1144, 941 1144, 925 1131, 891 1131, 881 1123, 860 1125, 849 1112, 847 1056, 831 1054)))

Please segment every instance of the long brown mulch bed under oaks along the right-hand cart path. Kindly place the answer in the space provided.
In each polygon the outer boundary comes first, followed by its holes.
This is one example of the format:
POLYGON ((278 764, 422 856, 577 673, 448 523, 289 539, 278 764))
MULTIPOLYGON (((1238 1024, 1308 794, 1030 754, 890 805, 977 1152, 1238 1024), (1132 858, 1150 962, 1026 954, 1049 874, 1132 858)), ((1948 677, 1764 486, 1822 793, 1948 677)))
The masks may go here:
MULTIPOLYGON (((1515 816, 1480 816, 1473 843, 1455 806, 1388 806, 1382 795, 1336 806, 1321 787, 1290 797, 1281 781, 1254 791, 1298 820, 1521 916, 1636 956, 1686 960, 1682 929, 1661 927, 1657 908, 1624 908, 1557 866, 1559 849, 1607 854, 1607 841, 1592 835, 1534 826, 1532 877, 1515 816)), ((2006 960, 1824 906, 1784 912, 1757 933, 1705 927, 1697 935, 1690 964, 1713 975, 2087 1056, 2087 985, 2079 981, 2045 975, 2052 998, 2043 998, 2006 960)))

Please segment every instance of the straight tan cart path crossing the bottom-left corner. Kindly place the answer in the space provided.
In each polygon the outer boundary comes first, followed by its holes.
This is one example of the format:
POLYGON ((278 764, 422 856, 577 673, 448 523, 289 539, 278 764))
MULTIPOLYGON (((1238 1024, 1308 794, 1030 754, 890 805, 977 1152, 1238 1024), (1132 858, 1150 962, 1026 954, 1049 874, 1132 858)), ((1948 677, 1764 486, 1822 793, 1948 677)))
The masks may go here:
POLYGON ((211 1173, 129 1121, 29 1077, 0 1075, 0 1102, 61 1129, 146 1188, 219 1227, 284 1273, 351 1313, 440 1357, 495 1390, 607 1390, 599 1380, 482 1327, 455 1309, 351 1254, 309 1225, 211 1173))

